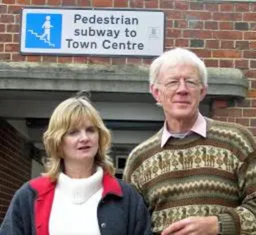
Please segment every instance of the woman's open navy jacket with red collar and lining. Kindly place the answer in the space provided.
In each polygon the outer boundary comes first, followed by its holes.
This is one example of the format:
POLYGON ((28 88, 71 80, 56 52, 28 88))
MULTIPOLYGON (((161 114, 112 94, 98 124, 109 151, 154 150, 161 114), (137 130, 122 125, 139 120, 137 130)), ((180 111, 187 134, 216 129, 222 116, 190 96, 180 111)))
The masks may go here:
MULTIPOLYGON (((97 209, 100 233, 152 234, 150 216, 141 195, 109 174, 104 174, 102 184, 102 199, 97 209)), ((25 183, 12 199, 1 224, 0 235, 49 235, 55 187, 56 183, 45 176, 25 183)))

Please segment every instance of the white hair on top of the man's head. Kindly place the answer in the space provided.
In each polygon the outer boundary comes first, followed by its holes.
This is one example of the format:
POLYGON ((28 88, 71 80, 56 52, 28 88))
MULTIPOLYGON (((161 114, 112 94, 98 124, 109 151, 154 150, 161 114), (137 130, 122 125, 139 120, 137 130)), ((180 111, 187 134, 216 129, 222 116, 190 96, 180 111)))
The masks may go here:
POLYGON ((167 50, 154 59, 149 69, 150 85, 156 83, 162 66, 175 66, 177 64, 194 64, 198 68, 200 80, 207 87, 207 69, 204 62, 194 52, 179 47, 167 50))

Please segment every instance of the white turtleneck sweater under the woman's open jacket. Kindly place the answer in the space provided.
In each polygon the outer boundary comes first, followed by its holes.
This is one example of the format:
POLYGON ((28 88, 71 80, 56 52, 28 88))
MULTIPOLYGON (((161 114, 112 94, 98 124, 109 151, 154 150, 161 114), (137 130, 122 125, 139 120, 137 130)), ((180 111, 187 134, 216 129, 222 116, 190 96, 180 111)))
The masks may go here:
POLYGON ((102 177, 101 167, 84 179, 60 174, 49 221, 50 235, 100 235, 97 207, 102 196, 102 177))

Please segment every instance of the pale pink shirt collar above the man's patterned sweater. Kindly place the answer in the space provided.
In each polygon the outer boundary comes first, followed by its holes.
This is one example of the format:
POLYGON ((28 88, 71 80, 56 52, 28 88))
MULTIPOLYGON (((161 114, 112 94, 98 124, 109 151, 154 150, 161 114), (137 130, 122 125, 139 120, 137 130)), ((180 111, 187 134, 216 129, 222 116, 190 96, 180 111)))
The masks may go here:
MULTIPOLYGON (((165 121, 164 128, 163 128, 163 134, 161 137, 161 148, 163 148, 163 146, 166 144, 168 139, 170 139, 170 137, 173 137, 172 133, 168 132, 166 125, 167 124, 165 121)), ((197 133, 198 135, 201 135, 204 138, 206 137, 206 121, 205 121, 205 118, 202 116, 202 114, 200 114, 200 112, 198 113, 196 121, 195 121, 194 125, 192 126, 192 128, 189 130, 188 134, 191 132, 197 133)))

